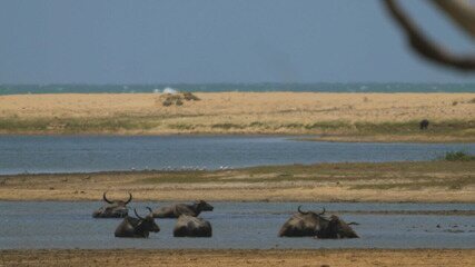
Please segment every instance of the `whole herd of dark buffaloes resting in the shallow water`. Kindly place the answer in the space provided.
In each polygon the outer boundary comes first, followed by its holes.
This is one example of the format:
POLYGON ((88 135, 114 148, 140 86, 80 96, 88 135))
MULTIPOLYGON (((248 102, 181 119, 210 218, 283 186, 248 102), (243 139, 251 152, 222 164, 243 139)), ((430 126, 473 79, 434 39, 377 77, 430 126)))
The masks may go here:
MULTIPOLYGON (((212 211, 214 207, 204 200, 194 204, 175 204, 169 207, 151 209, 147 207, 148 214, 140 216, 136 209, 136 217, 129 215, 127 205, 132 200, 129 192, 128 200, 109 200, 103 192, 105 206, 92 212, 93 218, 122 218, 116 228, 116 237, 147 238, 150 233, 159 233, 160 227, 155 222, 155 218, 176 218, 174 237, 211 237, 211 224, 204 218, 199 218, 201 211, 212 211)), ((358 235, 347 224, 336 215, 326 216, 325 208, 321 212, 303 211, 300 206, 297 212, 283 225, 279 237, 315 237, 320 239, 331 238, 358 238, 358 235)))

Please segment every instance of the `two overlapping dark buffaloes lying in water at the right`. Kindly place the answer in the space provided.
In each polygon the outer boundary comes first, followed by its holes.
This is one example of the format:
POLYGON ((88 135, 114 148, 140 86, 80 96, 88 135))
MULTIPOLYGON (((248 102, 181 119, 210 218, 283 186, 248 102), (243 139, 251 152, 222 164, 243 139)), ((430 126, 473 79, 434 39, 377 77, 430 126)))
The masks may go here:
MULTIPOLYGON (((279 237, 305 237, 313 236, 318 238, 357 238, 358 235, 337 216, 324 217, 323 212, 301 211, 298 206, 298 212, 294 214, 280 228, 279 237)), ((354 222, 352 222, 354 224, 354 222)))

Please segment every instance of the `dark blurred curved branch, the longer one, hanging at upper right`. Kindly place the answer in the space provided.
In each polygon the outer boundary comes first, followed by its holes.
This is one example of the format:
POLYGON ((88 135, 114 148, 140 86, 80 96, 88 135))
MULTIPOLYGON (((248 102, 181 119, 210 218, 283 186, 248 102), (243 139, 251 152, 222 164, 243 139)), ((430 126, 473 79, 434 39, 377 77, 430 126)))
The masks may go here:
POLYGON ((384 2, 389 14, 405 31, 410 47, 420 56, 433 62, 453 67, 458 70, 475 70, 475 56, 451 53, 445 48, 427 38, 414 21, 396 4, 395 0, 385 0, 384 2))

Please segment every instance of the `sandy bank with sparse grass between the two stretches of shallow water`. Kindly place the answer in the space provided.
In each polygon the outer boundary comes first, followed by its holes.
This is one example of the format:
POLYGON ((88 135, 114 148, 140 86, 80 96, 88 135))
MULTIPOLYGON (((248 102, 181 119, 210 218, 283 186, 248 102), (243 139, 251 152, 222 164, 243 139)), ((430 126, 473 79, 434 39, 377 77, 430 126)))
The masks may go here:
POLYGON ((475 164, 319 164, 222 171, 0 176, 1 200, 475 202, 475 164))

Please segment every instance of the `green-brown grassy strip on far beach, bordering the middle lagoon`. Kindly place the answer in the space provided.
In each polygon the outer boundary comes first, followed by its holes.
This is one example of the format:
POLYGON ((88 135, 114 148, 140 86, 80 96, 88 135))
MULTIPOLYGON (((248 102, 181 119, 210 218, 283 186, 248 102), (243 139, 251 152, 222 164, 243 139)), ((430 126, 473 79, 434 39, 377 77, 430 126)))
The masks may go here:
MULTIPOLYGON (((170 103, 181 105, 181 103, 170 103)), ((350 122, 345 120, 317 121, 311 123, 273 121, 253 121, 236 123, 232 121, 209 123, 202 115, 120 115, 96 118, 0 118, 1 134, 159 134, 180 130, 194 134, 226 134, 239 130, 246 134, 321 135, 340 137, 418 137, 417 140, 434 141, 439 138, 475 141, 475 120, 432 121, 427 130, 419 130, 418 121, 405 122, 350 122), (177 118, 180 118, 177 120, 177 118), (196 119, 195 119, 196 118, 196 119), (427 137, 427 138, 426 138, 427 137), (431 139, 432 138, 432 139, 431 139)), ((215 120, 216 121, 216 120, 215 120)), ((389 139, 388 139, 389 140, 389 139)))

